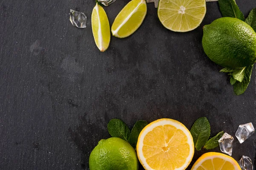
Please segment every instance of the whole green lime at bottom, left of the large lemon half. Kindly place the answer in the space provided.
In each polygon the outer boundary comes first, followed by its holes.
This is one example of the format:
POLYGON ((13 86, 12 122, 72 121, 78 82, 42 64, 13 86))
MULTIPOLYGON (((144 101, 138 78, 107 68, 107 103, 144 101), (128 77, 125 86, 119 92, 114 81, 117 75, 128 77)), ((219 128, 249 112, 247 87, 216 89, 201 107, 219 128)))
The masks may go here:
POLYGON ((102 139, 89 158, 90 170, 138 170, 134 148, 120 138, 102 139))

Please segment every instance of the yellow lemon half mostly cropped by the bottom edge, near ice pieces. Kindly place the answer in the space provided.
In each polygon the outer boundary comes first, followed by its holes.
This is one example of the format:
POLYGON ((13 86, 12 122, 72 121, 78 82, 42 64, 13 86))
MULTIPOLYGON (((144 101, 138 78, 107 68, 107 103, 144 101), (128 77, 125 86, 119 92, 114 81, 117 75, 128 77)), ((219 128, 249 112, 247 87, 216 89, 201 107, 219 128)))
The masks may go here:
POLYGON ((195 161, 191 170, 241 170, 241 168, 231 156, 208 152, 195 161))

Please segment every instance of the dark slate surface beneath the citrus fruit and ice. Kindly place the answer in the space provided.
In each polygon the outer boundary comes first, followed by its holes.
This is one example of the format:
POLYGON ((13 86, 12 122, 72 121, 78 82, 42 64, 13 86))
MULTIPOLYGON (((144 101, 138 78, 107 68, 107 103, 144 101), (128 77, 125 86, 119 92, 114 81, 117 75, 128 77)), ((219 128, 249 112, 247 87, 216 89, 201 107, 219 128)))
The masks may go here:
MULTIPOLYGON (((129 0, 105 8, 110 23, 129 0)), ((239 124, 256 125, 256 71, 241 96, 202 49, 202 27, 221 17, 207 3, 200 27, 187 33, 164 28, 154 4, 142 26, 109 49, 96 48, 90 15, 94 0, 0 1, 0 169, 88 170, 88 158, 107 123, 172 118, 190 128, 207 116, 212 135, 235 137, 239 124), (69 21, 84 11, 87 28, 69 21)), ((255 0, 237 0, 248 15, 255 0)), ((235 139, 233 157, 255 162, 256 135, 235 139)), ((219 151, 215 149, 214 151, 219 151)), ((207 152, 195 151, 192 163, 207 152)), ((188 168, 190 169, 191 166, 188 168)))

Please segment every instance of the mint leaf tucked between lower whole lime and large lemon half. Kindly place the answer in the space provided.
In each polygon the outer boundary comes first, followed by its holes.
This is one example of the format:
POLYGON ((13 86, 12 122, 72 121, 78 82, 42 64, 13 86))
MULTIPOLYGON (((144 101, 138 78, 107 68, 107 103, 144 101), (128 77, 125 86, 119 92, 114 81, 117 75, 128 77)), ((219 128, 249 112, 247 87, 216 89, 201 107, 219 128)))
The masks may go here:
POLYGON ((134 127, 131 130, 131 135, 129 138, 129 143, 131 144, 132 147, 136 148, 140 132, 146 125, 148 125, 148 122, 143 120, 139 120, 135 123, 134 127))

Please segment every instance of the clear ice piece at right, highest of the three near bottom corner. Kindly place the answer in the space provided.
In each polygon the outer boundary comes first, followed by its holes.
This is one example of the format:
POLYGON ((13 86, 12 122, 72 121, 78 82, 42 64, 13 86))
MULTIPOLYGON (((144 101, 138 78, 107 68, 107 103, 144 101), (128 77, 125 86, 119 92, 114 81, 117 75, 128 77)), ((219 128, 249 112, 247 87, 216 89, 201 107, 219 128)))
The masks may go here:
POLYGON ((252 136, 254 133, 254 127, 252 123, 239 125, 236 131, 236 137, 240 143, 243 143, 246 139, 252 136))

